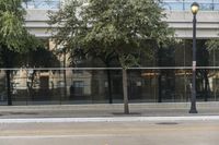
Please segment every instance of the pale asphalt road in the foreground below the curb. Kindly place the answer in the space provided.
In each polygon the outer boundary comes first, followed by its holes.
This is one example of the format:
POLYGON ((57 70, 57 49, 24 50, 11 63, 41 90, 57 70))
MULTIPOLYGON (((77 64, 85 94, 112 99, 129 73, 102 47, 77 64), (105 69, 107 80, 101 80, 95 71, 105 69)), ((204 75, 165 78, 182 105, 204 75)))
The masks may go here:
POLYGON ((0 145, 218 144, 218 121, 0 124, 0 145))

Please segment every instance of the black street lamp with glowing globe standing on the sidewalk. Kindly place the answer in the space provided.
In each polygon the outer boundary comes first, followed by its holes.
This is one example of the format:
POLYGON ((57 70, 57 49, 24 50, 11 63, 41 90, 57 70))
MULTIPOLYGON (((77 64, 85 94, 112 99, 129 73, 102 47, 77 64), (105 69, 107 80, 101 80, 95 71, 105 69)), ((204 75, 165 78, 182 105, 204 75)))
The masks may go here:
POLYGON ((196 14, 198 12, 199 4, 193 2, 191 10, 193 13, 193 84, 192 84, 192 98, 189 113, 197 113, 196 110, 196 14))

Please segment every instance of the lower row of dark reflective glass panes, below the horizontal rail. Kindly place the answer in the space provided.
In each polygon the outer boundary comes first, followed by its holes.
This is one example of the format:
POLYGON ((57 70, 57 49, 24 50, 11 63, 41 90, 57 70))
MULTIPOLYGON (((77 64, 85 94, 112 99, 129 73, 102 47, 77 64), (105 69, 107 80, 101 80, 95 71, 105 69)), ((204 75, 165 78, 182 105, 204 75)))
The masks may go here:
MULTIPOLYGON (((8 104, 5 70, 0 71, 0 105, 8 104)), ((132 68, 130 102, 186 102, 192 69, 132 68)), ((12 105, 123 102, 120 68, 11 69, 12 105)), ((197 100, 219 100, 219 68, 198 68, 197 100)))

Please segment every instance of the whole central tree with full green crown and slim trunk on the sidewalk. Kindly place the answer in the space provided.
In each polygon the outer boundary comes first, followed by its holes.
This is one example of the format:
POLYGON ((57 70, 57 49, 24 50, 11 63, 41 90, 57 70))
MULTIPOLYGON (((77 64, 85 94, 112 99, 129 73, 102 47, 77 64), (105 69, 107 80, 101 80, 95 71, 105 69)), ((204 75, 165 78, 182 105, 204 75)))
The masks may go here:
MULTIPOLYGON (((80 49, 85 55, 117 58, 123 68, 124 109, 129 113, 127 69, 139 65, 154 41, 163 44, 170 29, 158 0, 71 0, 50 15, 50 24, 58 24, 54 34, 58 45, 69 51, 80 49)), ((102 59, 102 60, 104 60, 102 59)))

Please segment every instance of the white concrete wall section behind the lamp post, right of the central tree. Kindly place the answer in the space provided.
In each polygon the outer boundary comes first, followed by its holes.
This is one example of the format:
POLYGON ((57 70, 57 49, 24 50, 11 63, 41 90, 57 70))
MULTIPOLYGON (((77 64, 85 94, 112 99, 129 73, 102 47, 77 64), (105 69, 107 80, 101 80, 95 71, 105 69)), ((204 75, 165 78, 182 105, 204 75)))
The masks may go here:
MULTIPOLYGON (((192 38, 193 14, 189 11, 166 12, 168 23, 173 27, 177 37, 192 38)), ((219 12, 199 12, 197 14, 197 37, 212 38, 219 37, 219 12)))

